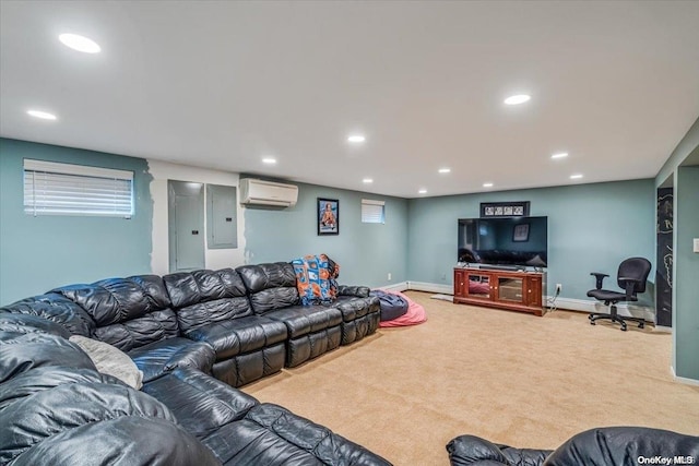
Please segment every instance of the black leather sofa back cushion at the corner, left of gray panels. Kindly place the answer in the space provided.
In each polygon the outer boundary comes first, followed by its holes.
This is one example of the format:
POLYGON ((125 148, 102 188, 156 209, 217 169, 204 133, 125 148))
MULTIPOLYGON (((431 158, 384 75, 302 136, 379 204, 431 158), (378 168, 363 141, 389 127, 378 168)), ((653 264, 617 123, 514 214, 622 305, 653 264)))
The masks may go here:
POLYGON ((95 321, 94 338, 129 351, 180 334, 170 300, 157 275, 109 278, 56 288, 95 321))

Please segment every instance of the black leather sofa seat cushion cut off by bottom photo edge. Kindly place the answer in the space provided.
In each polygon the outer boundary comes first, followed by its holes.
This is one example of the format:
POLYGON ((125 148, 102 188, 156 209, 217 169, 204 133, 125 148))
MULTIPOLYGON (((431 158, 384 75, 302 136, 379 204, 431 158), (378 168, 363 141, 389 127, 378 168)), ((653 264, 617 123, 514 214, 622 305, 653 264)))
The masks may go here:
POLYGON ((202 442, 226 465, 390 465, 328 428, 266 403, 202 442))

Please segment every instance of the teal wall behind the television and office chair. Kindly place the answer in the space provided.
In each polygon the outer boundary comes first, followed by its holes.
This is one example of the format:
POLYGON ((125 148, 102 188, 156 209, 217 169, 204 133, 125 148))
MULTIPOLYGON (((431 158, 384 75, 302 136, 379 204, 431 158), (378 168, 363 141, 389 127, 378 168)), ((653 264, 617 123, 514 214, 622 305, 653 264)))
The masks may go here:
MULTIPOLYGON (((615 276, 619 262, 626 258, 654 260, 652 179, 574 184, 411 200, 410 279, 451 286, 457 263, 457 220, 478 217, 482 202, 507 201, 530 201, 530 215, 548 216, 549 295, 560 283, 561 297, 589 300, 585 294, 594 287, 590 272, 615 276)), ((641 303, 652 306, 651 292, 643 296, 641 303)))

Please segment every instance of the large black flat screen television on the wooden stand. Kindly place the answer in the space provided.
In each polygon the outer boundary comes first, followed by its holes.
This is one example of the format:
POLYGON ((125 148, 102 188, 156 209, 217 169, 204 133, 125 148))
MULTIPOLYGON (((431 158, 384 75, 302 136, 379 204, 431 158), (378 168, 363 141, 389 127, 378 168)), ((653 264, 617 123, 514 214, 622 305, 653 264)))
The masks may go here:
POLYGON ((546 267, 548 217, 459 219, 458 262, 502 267, 546 267))

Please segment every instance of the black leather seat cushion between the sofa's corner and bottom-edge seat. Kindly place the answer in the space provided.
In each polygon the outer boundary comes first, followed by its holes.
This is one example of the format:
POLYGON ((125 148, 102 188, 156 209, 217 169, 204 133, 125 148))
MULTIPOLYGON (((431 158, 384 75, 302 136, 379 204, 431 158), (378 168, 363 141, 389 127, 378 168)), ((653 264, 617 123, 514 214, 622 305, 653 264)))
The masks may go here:
POLYGON ((258 401, 196 369, 178 368, 143 386, 167 406, 180 426, 202 438, 241 419, 258 401))

